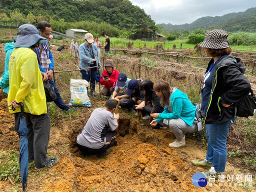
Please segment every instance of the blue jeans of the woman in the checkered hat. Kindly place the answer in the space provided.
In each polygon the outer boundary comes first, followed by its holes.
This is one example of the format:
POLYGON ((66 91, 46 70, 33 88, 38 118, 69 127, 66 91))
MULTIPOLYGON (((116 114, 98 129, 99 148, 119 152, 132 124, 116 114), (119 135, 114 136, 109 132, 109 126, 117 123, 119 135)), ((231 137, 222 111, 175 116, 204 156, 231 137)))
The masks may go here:
POLYGON ((208 138, 208 149, 206 160, 212 162, 215 171, 224 172, 226 165, 226 136, 229 127, 235 120, 228 120, 217 124, 206 124, 206 135, 208 138))

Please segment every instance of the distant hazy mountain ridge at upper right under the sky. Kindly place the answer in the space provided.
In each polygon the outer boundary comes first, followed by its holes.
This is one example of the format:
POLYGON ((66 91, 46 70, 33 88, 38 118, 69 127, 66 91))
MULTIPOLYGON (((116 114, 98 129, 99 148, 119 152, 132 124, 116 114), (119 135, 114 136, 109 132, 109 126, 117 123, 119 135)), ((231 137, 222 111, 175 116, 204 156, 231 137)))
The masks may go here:
POLYGON ((162 25, 162 30, 177 30, 177 29, 187 29, 193 30, 196 28, 221 28, 227 31, 248 31, 252 32, 256 29, 256 7, 248 8, 244 12, 233 12, 228 13, 223 16, 204 16, 196 19, 190 24, 160 24, 162 25))

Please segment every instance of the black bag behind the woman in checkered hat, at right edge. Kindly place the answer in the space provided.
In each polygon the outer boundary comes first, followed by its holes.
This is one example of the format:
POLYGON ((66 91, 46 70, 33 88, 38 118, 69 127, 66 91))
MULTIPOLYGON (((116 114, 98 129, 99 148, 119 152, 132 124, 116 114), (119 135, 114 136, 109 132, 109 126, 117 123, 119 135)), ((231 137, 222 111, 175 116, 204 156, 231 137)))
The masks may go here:
POLYGON ((255 112, 256 98, 250 89, 249 93, 243 99, 235 103, 235 114, 247 118, 248 116, 253 116, 255 112))

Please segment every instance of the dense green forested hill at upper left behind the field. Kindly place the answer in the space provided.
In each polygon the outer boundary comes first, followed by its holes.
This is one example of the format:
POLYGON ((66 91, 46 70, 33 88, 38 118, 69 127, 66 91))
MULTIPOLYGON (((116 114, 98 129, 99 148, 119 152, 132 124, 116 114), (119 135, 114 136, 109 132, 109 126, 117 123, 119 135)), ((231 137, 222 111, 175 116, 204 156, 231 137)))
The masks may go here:
POLYGON ((129 0, 0 0, 0 13, 11 15, 18 10, 24 15, 44 15, 49 20, 67 22, 105 21, 118 28, 130 24, 154 25, 150 15, 129 0))

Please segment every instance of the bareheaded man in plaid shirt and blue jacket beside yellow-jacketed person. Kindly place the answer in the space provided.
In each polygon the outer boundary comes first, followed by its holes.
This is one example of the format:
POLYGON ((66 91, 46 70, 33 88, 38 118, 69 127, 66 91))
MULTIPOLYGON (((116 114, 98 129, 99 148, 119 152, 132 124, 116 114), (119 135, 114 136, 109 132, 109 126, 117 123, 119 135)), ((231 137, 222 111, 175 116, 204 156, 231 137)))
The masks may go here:
MULTIPOLYGON (((48 38, 51 34, 51 25, 47 21, 40 21, 36 25, 36 28, 40 32, 40 35, 44 38, 48 38)), ((76 108, 70 108, 67 106, 60 94, 59 91, 52 80, 53 70, 54 70, 54 64, 53 64, 53 56, 51 54, 51 51, 49 49, 48 42, 44 42, 43 44, 39 44, 39 46, 34 50, 34 52, 37 55, 38 65, 41 71, 41 74, 43 76, 43 80, 49 80, 50 85, 54 88, 54 91, 57 95, 57 98, 54 100, 55 104, 61 108, 62 110, 73 110, 76 111, 76 108)))

